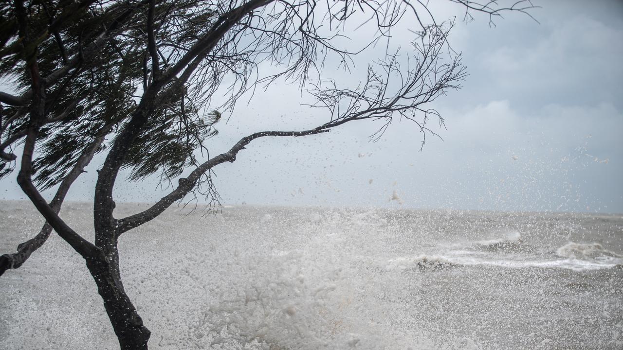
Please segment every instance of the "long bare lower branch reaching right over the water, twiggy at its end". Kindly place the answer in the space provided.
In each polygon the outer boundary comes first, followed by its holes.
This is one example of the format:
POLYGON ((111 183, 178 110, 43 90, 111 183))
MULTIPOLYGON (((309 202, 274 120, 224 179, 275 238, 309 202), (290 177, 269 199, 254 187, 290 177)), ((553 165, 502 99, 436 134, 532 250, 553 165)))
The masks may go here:
POLYGON ((435 111, 422 110, 420 106, 433 101, 449 88, 459 88, 459 85, 455 82, 458 82, 465 76, 464 67, 460 65, 460 57, 456 57, 451 64, 440 63, 440 55, 444 47, 446 47, 447 32, 450 28, 451 26, 444 30, 437 29, 428 37, 427 42, 414 44, 414 47, 421 55, 416 57, 415 67, 407 70, 406 77, 401 75, 401 65, 397 60, 397 54, 394 54, 387 61, 381 62, 385 76, 381 76, 371 67, 369 68, 368 81, 361 89, 354 91, 338 88, 321 89, 319 87, 316 90, 319 104, 314 106, 328 108, 331 113, 331 121, 306 131, 264 131, 242 138, 228 152, 209 159, 194 169, 188 177, 179 179, 178 187, 167 196, 164 196, 154 206, 141 213, 117 220, 117 235, 157 217, 173 202, 186 196, 196 186, 196 182, 201 174, 206 173, 206 171, 218 164, 226 161, 233 162, 235 155, 255 138, 262 136, 313 135, 329 131, 331 128, 350 121, 366 119, 387 120, 384 127, 379 130, 382 133, 386 130, 387 125, 391 123, 393 116, 398 115, 416 123, 422 135, 424 135, 423 146, 426 140, 426 133, 437 135, 426 126, 428 115, 439 116, 439 114, 435 111), (393 94, 389 90, 389 86, 391 86, 389 77, 392 75, 397 75, 400 78, 400 82, 397 85, 399 88, 393 94), (435 79, 432 80, 432 77, 435 77, 435 79), (343 102, 347 102, 346 105, 343 102), (341 107, 343 109, 340 109, 341 107), (424 113, 423 121, 417 121, 413 116, 409 115, 409 113, 414 115, 416 111, 424 113))

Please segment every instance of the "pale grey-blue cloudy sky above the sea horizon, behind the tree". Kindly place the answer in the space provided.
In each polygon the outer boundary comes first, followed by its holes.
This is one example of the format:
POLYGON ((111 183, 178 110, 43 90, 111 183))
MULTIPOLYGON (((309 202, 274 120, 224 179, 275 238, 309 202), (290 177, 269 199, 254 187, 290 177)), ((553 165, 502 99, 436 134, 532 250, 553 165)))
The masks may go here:
MULTIPOLYGON (((358 122, 305 138, 262 138, 234 163, 214 168, 224 204, 416 209, 623 212, 623 2, 534 1, 531 14, 461 22, 460 7, 432 7, 457 24, 463 88, 435 101, 445 119, 426 139, 414 125, 358 122), (393 199, 392 199, 393 198, 393 199)), ((437 5, 435 5, 437 6, 437 5)), ((392 33, 409 42, 408 32, 392 33)), ((365 40, 363 31, 351 40, 365 40)), ((363 42, 363 41, 361 41, 363 42)), ((378 48, 373 48, 372 53, 378 48)), ((363 57, 363 60, 367 56, 363 57)), ((358 72, 335 70, 356 86, 358 72)), ((331 74, 331 65, 325 70, 331 74)), ((336 67, 334 67, 336 68, 336 67)), ((328 120, 295 85, 273 84, 240 100, 207 141, 211 154, 263 130, 302 130, 328 120), (248 102, 248 103, 247 103, 248 102)), ((96 157, 69 200, 93 197, 96 157)), ((117 181, 115 200, 150 202, 166 194, 156 179, 117 181)), ((14 176, 0 198, 21 199, 14 176)), ((46 193, 48 197, 52 193, 46 193)))

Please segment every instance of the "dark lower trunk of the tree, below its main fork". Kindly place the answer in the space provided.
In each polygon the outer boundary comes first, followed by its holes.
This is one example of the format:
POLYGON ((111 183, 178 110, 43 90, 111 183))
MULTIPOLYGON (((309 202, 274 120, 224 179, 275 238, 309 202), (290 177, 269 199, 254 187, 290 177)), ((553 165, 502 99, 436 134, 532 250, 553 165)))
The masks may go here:
POLYGON ((102 296, 121 350, 146 350, 151 332, 143 325, 143 319, 123 290, 117 260, 106 258, 102 253, 100 257, 87 259, 87 267, 102 296))

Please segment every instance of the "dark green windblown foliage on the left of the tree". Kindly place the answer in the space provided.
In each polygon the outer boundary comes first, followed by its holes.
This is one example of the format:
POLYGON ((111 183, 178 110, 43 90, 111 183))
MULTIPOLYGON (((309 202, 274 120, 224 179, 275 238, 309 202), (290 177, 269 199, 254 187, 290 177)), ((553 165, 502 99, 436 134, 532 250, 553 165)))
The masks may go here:
MULTIPOLYGON (((184 52, 175 47, 190 45, 209 27, 213 14, 209 9, 197 7, 198 3, 170 0, 159 1, 156 6, 156 40, 164 48, 159 53, 164 69, 170 60, 179 59, 180 52, 184 52)), ((95 1, 89 7, 71 12, 70 20, 57 31, 47 32, 50 21, 75 4, 43 0, 27 6, 32 22, 28 34, 40 38, 36 40, 37 62, 42 77, 64 67, 69 59, 88 55, 98 35, 128 9, 129 2, 95 1)), ((98 135, 112 132, 107 138, 112 140, 136 110, 136 96, 153 80, 151 70, 145 68, 147 11, 147 7, 135 11, 128 21, 130 26, 115 32, 95 47, 97 54, 89 55, 69 75, 47 87, 45 113, 52 122, 40 129, 34 160, 34 181, 40 189, 59 184, 98 135)), ((24 50, 14 49, 20 45, 16 16, 10 4, 0 4, 0 78, 12 82, 14 92, 23 95, 29 91, 31 78, 22 57, 24 50)), ((141 179, 158 171, 166 177, 176 176, 184 166, 194 162, 193 152, 201 148, 202 141, 216 134, 212 125, 219 113, 204 111, 202 102, 206 100, 200 91, 188 93, 184 87, 179 93, 169 94, 166 101, 158 101, 160 108, 153 110, 150 123, 134 141, 124 163, 125 168, 131 169, 130 179, 141 179)), ((3 120, 7 120, 19 114, 20 107, 3 105, 2 109, 3 120)), ((0 140, 24 130, 26 116, 27 113, 22 113, 6 130, 0 130, 0 140)), ((13 168, 14 162, 0 161, 0 178, 10 174, 13 168)))

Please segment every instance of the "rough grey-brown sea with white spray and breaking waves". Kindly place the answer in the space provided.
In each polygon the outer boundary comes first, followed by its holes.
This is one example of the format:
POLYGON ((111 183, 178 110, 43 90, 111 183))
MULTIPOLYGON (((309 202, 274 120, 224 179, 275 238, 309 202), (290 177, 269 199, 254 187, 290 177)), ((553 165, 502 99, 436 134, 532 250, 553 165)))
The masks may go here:
MULTIPOLYGON (((0 252, 12 252, 41 220, 27 203, 0 204, 0 252)), ((91 210, 67 204, 63 215, 90 237, 91 210)), ((187 213, 120 240, 152 349, 623 348, 620 214, 187 213)), ((0 348, 118 348, 92 278, 59 237, 0 277, 0 348)))

